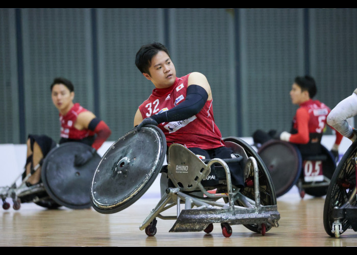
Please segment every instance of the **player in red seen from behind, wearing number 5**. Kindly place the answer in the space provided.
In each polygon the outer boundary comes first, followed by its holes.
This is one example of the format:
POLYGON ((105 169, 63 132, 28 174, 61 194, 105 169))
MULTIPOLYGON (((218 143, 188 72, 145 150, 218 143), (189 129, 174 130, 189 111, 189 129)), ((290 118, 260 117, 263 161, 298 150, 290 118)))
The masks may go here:
MULTIPOLYGON (((315 80, 305 75, 296 77, 290 91, 292 103, 298 105, 293 118, 292 128, 289 132, 277 132, 271 130, 268 133, 257 130, 253 134, 254 143, 263 144, 270 139, 280 139, 294 143, 298 146, 302 155, 319 154, 321 152, 322 133, 326 127, 326 117, 330 109, 319 100, 313 100, 317 92, 315 80)), ((331 149, 335 160, 338 159, 338 145, 342 135, 336 132, 336 140, 331 149)))

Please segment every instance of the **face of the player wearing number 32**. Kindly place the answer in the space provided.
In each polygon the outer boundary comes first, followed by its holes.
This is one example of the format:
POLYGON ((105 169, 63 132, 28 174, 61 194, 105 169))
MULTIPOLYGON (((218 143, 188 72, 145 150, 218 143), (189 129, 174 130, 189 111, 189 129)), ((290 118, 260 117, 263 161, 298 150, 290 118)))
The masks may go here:
POLYGON ((143 73, 143 75, 154 83, 156 88, 168 88, 176 80, 175 66, 167 53, 162 50, 151 59, 149 72, 150 74, 143 73))

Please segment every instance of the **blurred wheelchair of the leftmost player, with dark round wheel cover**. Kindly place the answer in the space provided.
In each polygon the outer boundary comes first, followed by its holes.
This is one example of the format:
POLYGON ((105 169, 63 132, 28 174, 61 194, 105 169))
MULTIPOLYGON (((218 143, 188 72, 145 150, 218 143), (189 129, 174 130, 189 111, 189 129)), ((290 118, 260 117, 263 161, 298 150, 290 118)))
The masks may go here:
POLYGON ((21 173, 6 187, 0 187, 3 209, 8 210, 12 199, 13 209, 19 210, 21 203, 34 202, 36 205, 57 209, 65 206, 71 209, 91 208, 90 184, 93 172, 101 157, 96 154, 85 165, 74 166, 74 155, 88 149, 80 142, 67 142, 53 148, 44 160, 34 167, 41 166, 41 182, 27 186, 26 181, 33 173, 21 173))

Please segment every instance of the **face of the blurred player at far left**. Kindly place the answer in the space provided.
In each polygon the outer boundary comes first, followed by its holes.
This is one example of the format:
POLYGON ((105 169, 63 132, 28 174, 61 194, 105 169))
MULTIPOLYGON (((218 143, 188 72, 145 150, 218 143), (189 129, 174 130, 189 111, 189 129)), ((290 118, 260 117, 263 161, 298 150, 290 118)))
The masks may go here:
POLYGON ((74 92, 70 92, 69 89, 63 84, 56 84, 52 88, 52 101, 56 108, 66 113, 73 106, 74 92))

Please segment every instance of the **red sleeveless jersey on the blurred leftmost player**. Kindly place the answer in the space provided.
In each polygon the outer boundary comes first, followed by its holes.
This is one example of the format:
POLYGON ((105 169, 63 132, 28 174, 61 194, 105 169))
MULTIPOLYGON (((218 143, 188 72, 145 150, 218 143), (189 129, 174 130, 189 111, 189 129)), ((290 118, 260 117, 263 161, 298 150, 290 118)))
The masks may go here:
POLYGON ((61 113, 59 114, 61 122, 61 137, 81 140, 88 136, 94 136, 95 133, 91 130, 78 130, 74 127, 74 123, 77 120, 78 115, 85 111, 88 110, 80 106, 79 103, 75 103, 66 115, 62 115, 61 113))

